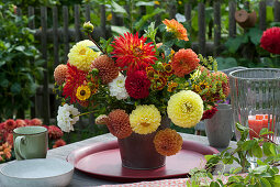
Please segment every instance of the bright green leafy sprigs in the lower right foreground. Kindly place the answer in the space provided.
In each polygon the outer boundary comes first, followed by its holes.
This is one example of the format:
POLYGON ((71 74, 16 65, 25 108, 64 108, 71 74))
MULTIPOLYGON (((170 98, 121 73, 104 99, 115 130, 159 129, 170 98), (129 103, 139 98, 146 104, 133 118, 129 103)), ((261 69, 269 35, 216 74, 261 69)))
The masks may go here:
POLYGON ((187 182, 187 186, 201 186, 201 178, 205 178, 204 186, 279 186, 280 175, 279 169, 276 167, 280 161, 279 145, 269 139, 273 132, 264 128, 258 139, 247 139, 249 128, 236 123, 236 129, 240 132, 240 140, 237 142, 237 147, 231 150, 227 147, 225 151, 215 155, 205 155, 206 169, 194 168, 190 172, 191 179, 187 182), (262 145, 262 146, 261 146, 262 145), (237 154, 237 156, 235 156, 237 154), (250 168, 250 163, 247 156, 256 156, 258 166, 250 168), (266 156, 265 158, 262 156, 266 156), (229 174, 222 170, 221 175, 228 176, 228 180, 223 183, 217 176, 213 180, 211 169, 219 165, 238 163, 240 167, 229 169, 229 174), (247 172, 247 176, 239 176, 239 173, 247 172))

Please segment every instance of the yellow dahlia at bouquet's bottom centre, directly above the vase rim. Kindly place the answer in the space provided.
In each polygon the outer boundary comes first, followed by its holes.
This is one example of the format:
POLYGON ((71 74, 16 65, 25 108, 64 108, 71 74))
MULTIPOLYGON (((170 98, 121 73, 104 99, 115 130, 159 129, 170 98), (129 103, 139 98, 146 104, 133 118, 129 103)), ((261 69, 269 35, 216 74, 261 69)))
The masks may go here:
POLYGON ((130 114, 132 130, 138 134, 148 134, 160 125, 161 116, 154 105, 137 106, 130 114))

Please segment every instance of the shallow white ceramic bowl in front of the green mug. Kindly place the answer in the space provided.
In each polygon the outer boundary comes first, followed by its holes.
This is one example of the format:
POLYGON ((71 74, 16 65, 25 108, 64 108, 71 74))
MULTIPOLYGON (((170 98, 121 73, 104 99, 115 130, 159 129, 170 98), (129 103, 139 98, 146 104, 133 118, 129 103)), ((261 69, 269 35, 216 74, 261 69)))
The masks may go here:
POLYGON ((74 166, 58 158, 15 161, 0 169, 2 187, 60 187, 69 185, 74 166))

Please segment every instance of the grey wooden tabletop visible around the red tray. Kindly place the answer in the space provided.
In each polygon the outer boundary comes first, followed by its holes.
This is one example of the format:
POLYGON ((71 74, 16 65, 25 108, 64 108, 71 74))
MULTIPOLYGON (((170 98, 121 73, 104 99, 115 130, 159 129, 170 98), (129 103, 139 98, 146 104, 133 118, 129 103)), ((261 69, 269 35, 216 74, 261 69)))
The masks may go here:
MULTIPOLYGON (((183 138, 183 140, 194 141, 194 142, 199 142, 199 143, 204 144, 204 145, 209 145, 209 141, 208 141, 206 136, 192 135, 192 134, 186 134, 186 133, 180 133, 180 134, 183 138)), ((115 139, 116 138, 114 138, 110 133, 99 135, 99 136, 94 136, 94 138, 91 138, 91 139, 87 139, 85 141, 80 141, 80 142, 71 143, 71 144, 68 144, 68 145, 65 145, 65 146, 61 146, 61 147, 49 150, 47 152, 47 157, 56 157, 56 158, 66 160, 67 155, 76 148, 80 148, 82 146, 87 146, 87 145, 90 145, 92 143, 107 142, 107 141, 112 141, 112 140, 115 140, 115 139)), ((236 142, 231 142, 229 146, 231 147, 236 147, 236 142)), ((217 150, 222 151, 223 148, 222 150, 217 148, 217 150)), ((7 163, 1 164, 0 167, 2 167, 5 164, 7 163)), ((88 176, 88 175, 86 175, 86 174, 83 174, 83 173, 76 169, 75 173, 74 173, 74 177, 72 177, 72 180, 71 180, 69 187, 99 186, 99 185, 110 185, 110 184, 117 184, 117 183, 97 179, 97 178, 93 178, 92 176, 88 176)))

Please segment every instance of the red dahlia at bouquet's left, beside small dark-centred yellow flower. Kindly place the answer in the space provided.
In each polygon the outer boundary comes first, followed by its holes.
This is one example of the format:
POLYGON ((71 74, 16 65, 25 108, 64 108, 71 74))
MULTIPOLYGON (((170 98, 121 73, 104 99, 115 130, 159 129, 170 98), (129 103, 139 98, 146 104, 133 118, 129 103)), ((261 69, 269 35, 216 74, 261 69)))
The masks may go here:
POLYGON ((77 69, 77 67, 71 66, 69 63, 68 66, 68 74, 66 76, 66 84, 63 89, 63 96, 65 98, 70 98, 70 103, 77 101, 76 92, 77 88, 83 84, 86 80, 86 73, 82 70, 77 69))

